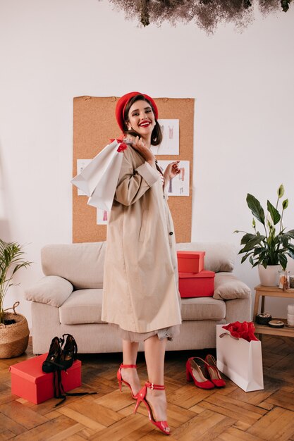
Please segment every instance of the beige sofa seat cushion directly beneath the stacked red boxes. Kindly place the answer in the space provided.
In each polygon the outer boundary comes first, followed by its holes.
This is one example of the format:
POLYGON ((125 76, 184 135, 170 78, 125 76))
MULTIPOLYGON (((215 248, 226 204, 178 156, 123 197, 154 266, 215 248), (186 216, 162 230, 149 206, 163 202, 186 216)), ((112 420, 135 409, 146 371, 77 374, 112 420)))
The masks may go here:
POLYGON ((186 320, 221 320, 226 316, 226 304, 212 297, 182 299, 182 318, 186 320))

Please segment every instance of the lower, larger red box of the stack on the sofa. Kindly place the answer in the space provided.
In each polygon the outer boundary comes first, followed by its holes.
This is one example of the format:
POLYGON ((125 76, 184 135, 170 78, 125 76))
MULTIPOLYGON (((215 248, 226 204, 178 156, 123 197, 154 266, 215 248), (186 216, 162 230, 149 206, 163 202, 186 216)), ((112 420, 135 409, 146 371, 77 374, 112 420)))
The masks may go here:
POLYGON ((180 297, 212 297, 214 295, 214 271, 179 273, 180 297))

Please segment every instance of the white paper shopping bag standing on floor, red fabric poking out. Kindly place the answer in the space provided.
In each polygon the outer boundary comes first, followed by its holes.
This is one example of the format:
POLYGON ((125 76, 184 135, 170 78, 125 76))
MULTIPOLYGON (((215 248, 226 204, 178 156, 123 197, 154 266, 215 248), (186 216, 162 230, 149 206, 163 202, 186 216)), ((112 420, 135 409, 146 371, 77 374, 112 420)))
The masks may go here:
POLYGON ((264 388, 262 343, 232 337, 223 325, 216 325, 216 366, 245 392, 264 388))

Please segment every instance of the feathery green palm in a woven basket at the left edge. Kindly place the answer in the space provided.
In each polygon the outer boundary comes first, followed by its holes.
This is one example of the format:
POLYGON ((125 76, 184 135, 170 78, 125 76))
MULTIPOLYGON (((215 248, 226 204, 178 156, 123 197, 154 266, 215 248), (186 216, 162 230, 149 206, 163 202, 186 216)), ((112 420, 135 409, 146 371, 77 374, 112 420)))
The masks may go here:
POLYGON ((0 239, 0 359, 18 356, 27 349, 30 331, 26 318, 16 313, 19 302, 8 308, 13 309, 13 313, 4 309, 4 297, 8 288, 14 285, 13 276, 31 263, 23 259, 23 254, 18 243, 0 239))

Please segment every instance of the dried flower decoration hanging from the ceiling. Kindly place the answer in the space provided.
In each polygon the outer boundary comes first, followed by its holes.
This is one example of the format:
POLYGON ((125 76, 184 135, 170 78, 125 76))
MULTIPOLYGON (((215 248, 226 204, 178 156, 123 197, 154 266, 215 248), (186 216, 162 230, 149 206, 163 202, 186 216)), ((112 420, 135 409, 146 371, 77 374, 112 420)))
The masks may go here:
POLYGON ((253 6, 257 4, 263 14, 287 12, 292 0, 110 0, 123 9, 126 18, 137 17, 143 26, 161 25, 164 21, 190 23, 194 21, 208 33, 214 32, 221 22, 246 27, 253 20, 253 6))

